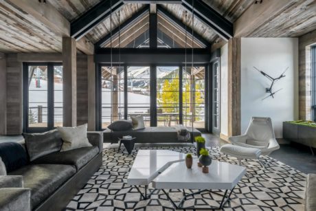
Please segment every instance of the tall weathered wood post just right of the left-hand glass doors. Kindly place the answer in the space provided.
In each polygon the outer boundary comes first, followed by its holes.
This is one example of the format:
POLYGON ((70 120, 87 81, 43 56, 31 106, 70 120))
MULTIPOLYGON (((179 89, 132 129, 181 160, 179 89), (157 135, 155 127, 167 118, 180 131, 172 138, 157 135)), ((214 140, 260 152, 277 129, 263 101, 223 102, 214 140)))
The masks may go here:
POLYGON ((77 125, 76 40, 63 37, 63 126, 77 125))

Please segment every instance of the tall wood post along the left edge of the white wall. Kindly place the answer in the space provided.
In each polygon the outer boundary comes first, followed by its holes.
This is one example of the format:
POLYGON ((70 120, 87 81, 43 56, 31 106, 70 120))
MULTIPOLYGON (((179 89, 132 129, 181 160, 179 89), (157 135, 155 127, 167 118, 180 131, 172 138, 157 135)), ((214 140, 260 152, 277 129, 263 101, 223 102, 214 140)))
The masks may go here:
POLYGON ((240 135, 241 38, 228 41, 228 136, 240 135))

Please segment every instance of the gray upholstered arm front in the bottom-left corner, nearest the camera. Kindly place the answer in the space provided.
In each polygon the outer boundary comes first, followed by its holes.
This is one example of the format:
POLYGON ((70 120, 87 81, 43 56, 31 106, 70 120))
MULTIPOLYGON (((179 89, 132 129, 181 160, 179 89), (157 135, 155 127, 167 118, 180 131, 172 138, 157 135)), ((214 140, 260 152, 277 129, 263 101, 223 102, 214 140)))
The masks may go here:
POLYGON ((1 188, 0 210, 1 211, 30 211, 31 190, 28 188, 1 188))

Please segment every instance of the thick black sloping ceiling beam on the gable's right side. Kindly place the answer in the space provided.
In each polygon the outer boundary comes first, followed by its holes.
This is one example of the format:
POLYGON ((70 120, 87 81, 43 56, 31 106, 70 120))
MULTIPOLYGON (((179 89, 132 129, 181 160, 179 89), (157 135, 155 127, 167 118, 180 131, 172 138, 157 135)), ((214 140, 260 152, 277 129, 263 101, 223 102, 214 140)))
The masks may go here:
POLYGON ((188 12, 192 12, 192 8, 194 8, 194 16, 209 27, 212 27, 226 41, 234 36, 234 25, 203 1, 182 0, 182 5, 188 12), (193 7, 192 2, 194 2, 193 7))

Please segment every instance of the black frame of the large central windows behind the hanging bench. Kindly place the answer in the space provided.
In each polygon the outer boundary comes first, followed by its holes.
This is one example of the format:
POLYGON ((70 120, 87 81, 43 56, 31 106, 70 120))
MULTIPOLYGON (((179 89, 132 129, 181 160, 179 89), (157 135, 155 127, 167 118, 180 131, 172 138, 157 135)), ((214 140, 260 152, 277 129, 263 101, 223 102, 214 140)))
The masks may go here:
MULTIPOLYGON (((112 64, 113 67, 119 66, 118 63, 113 63, 112 64)), ((102 128, 102 87, 101 87, 101 80, 102 80, 102 67, 109 67, 111 66, 111 63, 98 63, 97 64, 97 74, 95 74, 95 81, 96 81, 96 89, 95 89, 95 93, 96 93, 96 109, 95 109, 95 125, 96 125, 96 129, 98 131, 103 131, 104 129, 102 128)), ((128 115, 128 111, 127 111, 127 104, 128 104, 128 99, 127 99, 127 68, 130 66, 133 67, 150 67, 150 126, 157 126, 157 67, 179 67, 179 124, 183 123, 183 100, 182 100, 182 73, 183 73, 183 67, 185 67, 183 64, 179 64, 179 63, 158 63, 158 64, 150 64, 150 63, 133 63, 133 64, 126 64, 126 63, 122 63, 120 65, 121 67, 124 67, 124 120, 127 120, 127 115, 128 115)), ((188 67, 192 66, 192 64, 190 63, 190 65, 188 64, 188 67)), ((194 63, 193 65, 194 67, 204 67, 205 68, 205 126, 203 129, 199 129, 199 131, 201 132, 205 132, 205 131, 209 131, 208 128, 208 124, 210 124, 210 122, 208 122, 208 117, 209 117, 209 104, 208 99, 210 98, 210 92, 208 90, 209 87, 209 82, 210 82, 210 76, 212 76, 212 74, 208 74, 208 72, 210 71, 210 65, 209 63, 207 64, 201 64, 201 63, 194 63)), ((212 93, 212 91, 211 91, 212 93)))

